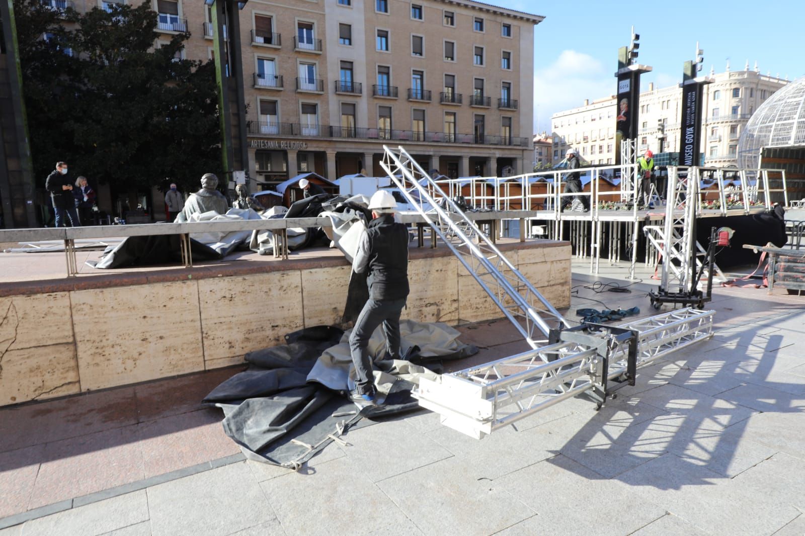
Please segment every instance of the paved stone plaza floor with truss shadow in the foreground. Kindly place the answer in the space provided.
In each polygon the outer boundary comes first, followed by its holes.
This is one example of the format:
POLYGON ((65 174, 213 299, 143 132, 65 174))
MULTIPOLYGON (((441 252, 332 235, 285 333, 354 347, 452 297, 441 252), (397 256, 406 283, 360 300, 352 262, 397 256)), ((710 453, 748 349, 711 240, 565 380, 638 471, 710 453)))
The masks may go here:
MULTIPOLYGON (((649 270, 573 262, 572 307, 654 314, 649 270)), ((669 306, 663 308, 668 310, 669 306)), ((711 340, 485 439, 421 411, 349 431, 299 472, 246 461, 201 398, 239 368, 0 408, 0 536, 805 534, 805 297, 716 287, 711 340)), ((525 351, 504 320, 460 327, 525 351)))

